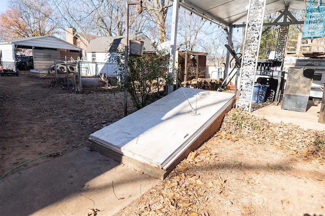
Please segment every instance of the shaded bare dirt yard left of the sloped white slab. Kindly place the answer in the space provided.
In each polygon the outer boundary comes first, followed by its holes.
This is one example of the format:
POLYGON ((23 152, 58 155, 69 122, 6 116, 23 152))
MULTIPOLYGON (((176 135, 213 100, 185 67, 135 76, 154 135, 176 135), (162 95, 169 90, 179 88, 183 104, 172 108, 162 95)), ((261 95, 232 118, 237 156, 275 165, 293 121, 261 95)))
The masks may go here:
MULTIPOLYGON (((0 77, 0 175, 44 154, 87 144, 102 121, 110 124, 124 116, 123 92, 98 89, 77 94, 53 80, 0 77)), ((134 111, 131 104, 128 111, 134 111)), ((65 153, 34 160, 8 175, 65 153)))

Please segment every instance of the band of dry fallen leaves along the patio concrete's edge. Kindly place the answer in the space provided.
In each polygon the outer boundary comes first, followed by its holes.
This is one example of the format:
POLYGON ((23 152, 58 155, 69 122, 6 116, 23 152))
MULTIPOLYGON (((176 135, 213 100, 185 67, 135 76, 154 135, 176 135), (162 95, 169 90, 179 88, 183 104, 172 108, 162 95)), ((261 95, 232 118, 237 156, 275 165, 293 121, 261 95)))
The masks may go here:
POLYGON ((234 141, 239 137, 250 144, 273 145, 290 155, 297 154, 322 164, 325 159, 325 132, 283 122, 271 123, 240 109, 226 114, 215 137, 234 141))

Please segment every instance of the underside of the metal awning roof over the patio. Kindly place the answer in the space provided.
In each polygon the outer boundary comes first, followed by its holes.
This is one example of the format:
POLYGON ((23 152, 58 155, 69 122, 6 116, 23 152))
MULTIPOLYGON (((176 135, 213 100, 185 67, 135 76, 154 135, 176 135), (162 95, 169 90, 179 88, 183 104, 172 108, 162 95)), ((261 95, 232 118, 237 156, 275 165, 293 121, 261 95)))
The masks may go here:
MULTIPOLYGON (((317 3, 315 0, 314 6, 317 3)), ((224 27, 246 22, 248 4, 248 0, 180 0, 179 3, 192 13, 224 27)), ((305 10, 308 6, 309 0, 267 0, 265 14, 282 12, 285 8, 305 10)))

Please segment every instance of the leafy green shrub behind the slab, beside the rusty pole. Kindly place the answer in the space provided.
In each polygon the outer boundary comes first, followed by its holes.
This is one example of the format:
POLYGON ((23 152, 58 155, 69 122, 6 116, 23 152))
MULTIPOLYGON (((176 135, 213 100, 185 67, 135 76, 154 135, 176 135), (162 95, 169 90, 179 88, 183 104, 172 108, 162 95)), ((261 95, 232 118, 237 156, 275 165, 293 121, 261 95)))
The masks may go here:
POLYGON ((141 57, 128 56, 128 74, 125 79, 122 49, 118 51, 117 62, 121 85, 130 93, 135 109, 145 107, 149 103, 150 96, 157 89, 155 83, 160 85, 161 82, 166 81, 166 68, 169 65, 167 52, 162 50, 144 53, 141 57))

